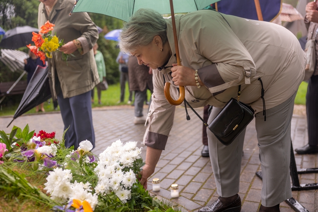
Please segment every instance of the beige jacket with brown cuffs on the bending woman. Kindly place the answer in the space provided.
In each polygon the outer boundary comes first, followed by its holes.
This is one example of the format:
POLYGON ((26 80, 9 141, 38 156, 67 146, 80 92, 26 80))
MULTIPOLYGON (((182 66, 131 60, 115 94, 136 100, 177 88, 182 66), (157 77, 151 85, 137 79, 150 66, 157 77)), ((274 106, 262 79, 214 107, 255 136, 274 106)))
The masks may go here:
MULTIPOLYGON (((175 16, 182 65, 198 70, 206 86, 186 86, 185 99, 194 108, 224 107, 241 85, 240 101, 258 113, 263 110, 260 77, 266 109, 286 101, 304 78, 306 55, 297 38, 277 24, 222 15, 199 10, 175 16)), ((176 63, 172 22, 166 21, 172 57, 165 67, 176 63)), ((153 70, 154 93, 143 143, 156 149, 164 149, 175 112, 164 97, 164 77, 171 83, 171 96, 179 97, 170 69, 153 70)))

